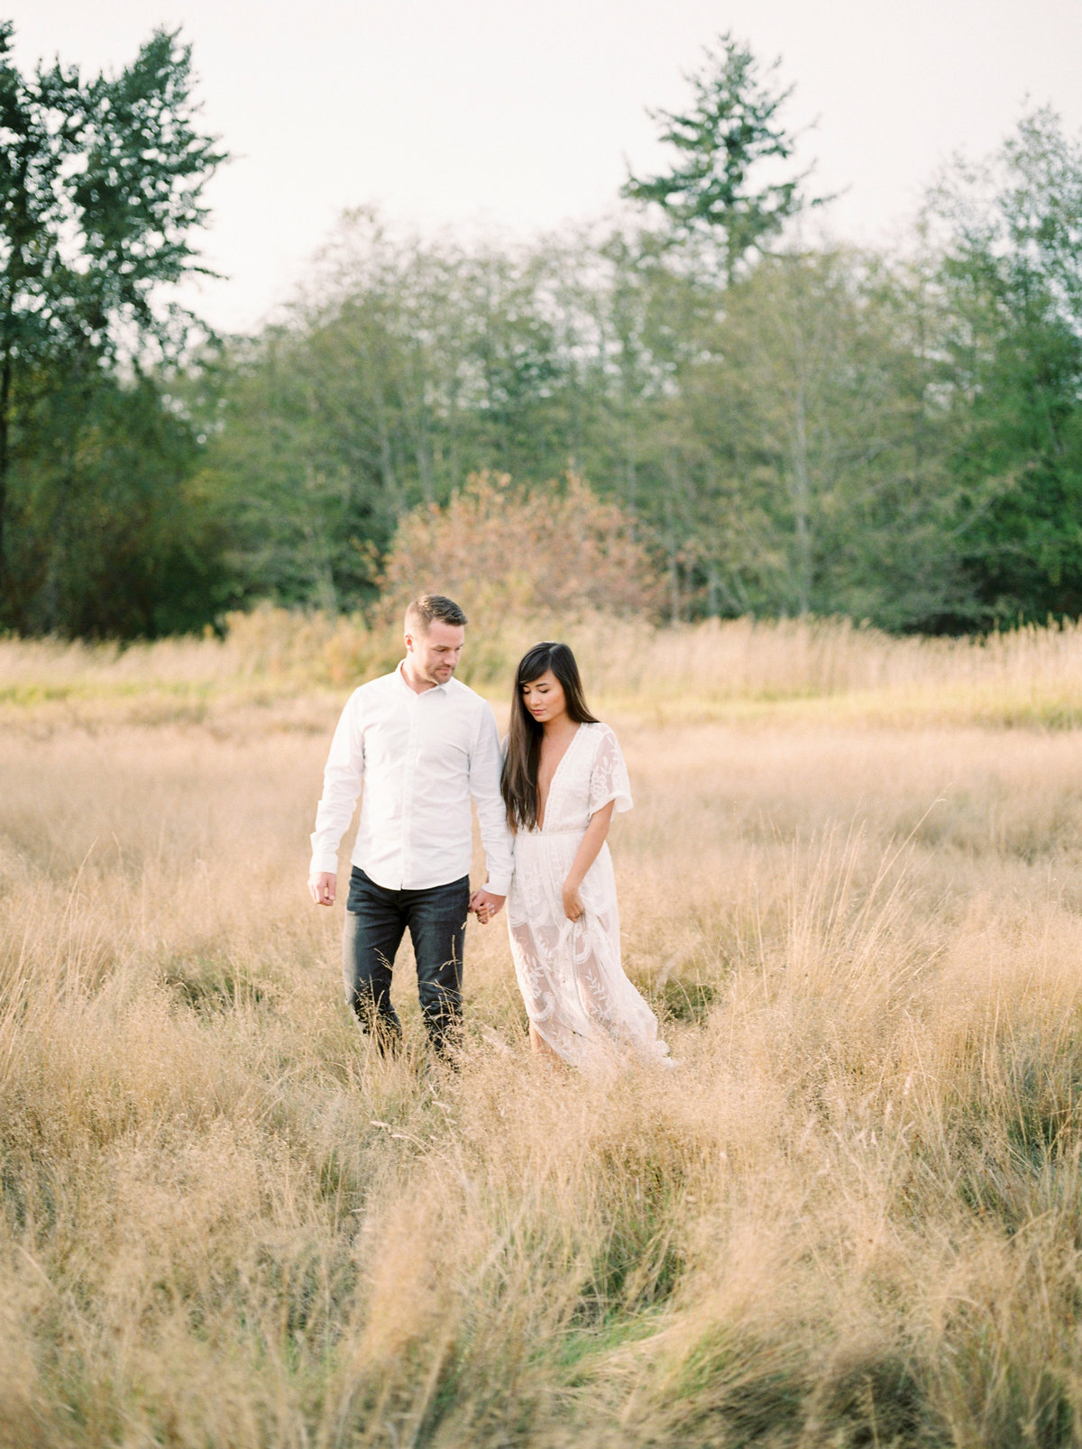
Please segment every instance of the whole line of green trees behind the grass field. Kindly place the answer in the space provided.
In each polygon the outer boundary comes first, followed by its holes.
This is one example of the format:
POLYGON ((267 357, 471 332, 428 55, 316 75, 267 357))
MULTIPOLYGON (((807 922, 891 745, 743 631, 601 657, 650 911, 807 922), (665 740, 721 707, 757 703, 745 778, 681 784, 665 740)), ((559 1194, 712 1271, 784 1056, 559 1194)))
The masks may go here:
POLYGON ((513 480, 507 540, 552 548, 539 500, 608 509, 672 619, 1082 613, 1082 143, 1052 112, 857 249, 818 235, 776 68, 723 36, 618 222, 464 246, 359 210, 272 325, 213 339, 168 306, 223 161, 188 49, 85 80, 0 46, 7 627, 365 607, 478 474, 513 480))

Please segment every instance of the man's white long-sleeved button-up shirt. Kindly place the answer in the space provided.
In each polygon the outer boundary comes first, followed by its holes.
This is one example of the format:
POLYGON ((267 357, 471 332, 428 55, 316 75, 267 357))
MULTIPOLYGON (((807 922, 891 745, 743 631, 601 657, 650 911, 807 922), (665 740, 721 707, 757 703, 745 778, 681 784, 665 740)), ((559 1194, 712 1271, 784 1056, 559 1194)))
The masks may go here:
POLYGON ((500 794, 491 706, 458 680, 417 694, 401 665, 355 690, 337 722, 311 836, 311 875, 337 871, 361 798, 352 864, 385 890, 427 890, 469 874, 477 804, 487 888, 506 895, 513 845, 500 794))

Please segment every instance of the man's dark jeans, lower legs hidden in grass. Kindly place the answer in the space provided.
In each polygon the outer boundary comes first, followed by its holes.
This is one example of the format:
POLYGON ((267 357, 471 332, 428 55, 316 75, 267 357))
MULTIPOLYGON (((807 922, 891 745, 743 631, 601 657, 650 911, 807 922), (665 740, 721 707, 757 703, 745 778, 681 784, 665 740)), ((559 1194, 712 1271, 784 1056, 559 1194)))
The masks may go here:
POLYGON ((417 994, 429 1039, 443 1055, 462 1019, 462 942, 469 877, 424 891, 388 891, 353 867, 342 939, 346 1001, 382 1051, 395 1051, 403 1029, 391 1006, 391 971, 406 929, 417 958, 417 994))

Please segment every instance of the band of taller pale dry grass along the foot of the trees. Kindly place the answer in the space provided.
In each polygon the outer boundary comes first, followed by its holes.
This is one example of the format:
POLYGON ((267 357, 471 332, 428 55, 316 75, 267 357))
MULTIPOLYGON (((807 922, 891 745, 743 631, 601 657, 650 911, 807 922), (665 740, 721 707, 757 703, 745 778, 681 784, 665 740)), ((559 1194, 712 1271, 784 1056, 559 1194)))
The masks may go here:
MULTIPOLYGON (((595 696, 652 717, 792 717, 911 723, 1082 723, 1082 625, 1027 626, 984 639, 894 638, 844 619, 708 620, 530 617, 491 609, 469 627, 461 678, 501 697, 540 638, 572 643, 595 696)), ((206 720, 222 694, 253 704, 339 691, 394 668, 397 625, 261 607, 230 614, 223 639, 119 646, 0 639, 0 717, 26 706, 85 722, 206 720)))

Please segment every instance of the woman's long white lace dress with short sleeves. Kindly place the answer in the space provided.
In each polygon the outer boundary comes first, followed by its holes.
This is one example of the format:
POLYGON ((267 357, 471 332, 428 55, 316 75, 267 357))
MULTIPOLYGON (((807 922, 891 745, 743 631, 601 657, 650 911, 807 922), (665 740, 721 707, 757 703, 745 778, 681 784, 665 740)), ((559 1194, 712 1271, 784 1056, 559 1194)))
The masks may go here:
POLYGON ((563 881, 582 835, 610 800, 632 809, 632 787, 616 735, 579 724, 556 767, 540 830, 514 838, 507 898, 511 955, 526 1011, 549 1046, 575 1066, 605 1061, 614 1048, 663 1058, 658 1019, 620 965, 620 914, 608 845, 587 871, 584 914, 563 914, 563 881))

